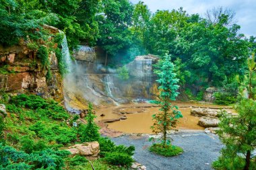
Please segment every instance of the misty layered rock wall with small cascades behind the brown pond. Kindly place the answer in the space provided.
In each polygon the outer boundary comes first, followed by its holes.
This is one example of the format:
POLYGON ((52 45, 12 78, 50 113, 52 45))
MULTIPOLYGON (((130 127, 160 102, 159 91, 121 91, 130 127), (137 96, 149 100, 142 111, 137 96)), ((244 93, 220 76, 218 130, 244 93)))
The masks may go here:
POLYGON ((75 50, 73 69, 66 79, 65 94, 67 108, 81 109, 90 101, 94 105, 129 103, 133 99, 141 101, 154 99, 158 93, 152 70, 158 58, 154 55, 137 56, 125 67, 129 71, 129 79, 120 79, 117 71, 104 67, 98 48, 79 46, 75 50), (75 102, 74 102, 75 101, 75 102), (81 102, 82 101, 82 102, 81 102))

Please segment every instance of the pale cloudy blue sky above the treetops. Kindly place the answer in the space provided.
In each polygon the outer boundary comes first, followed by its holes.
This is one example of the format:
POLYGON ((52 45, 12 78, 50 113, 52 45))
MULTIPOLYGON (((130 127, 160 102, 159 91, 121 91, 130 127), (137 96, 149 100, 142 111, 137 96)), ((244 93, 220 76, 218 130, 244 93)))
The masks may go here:
MULTIPOLYGON (((137 3, 139 0, 130 0, 137 3)), ((256 0, 142 0, 148 5, 150 11, 172 10, 183 7, 187 13, 199 13, 203 16, 207 9, 213 7, 224 7, 236 13, 235 18, 239 26, 240 33, 246 36, 256 36, 256 0)))

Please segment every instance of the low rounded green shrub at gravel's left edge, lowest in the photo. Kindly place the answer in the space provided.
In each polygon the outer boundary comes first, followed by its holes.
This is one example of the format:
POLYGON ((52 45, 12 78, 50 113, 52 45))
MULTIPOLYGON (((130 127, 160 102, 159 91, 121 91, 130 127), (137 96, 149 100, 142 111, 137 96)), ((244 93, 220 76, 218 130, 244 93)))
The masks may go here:
POLYGON ((131 155, 119 152, 107 153, 104 157, 104 161, 110 163, 111 165, 121 165, 128 167, 131 166, 131 163, 133 163, 131 155))

